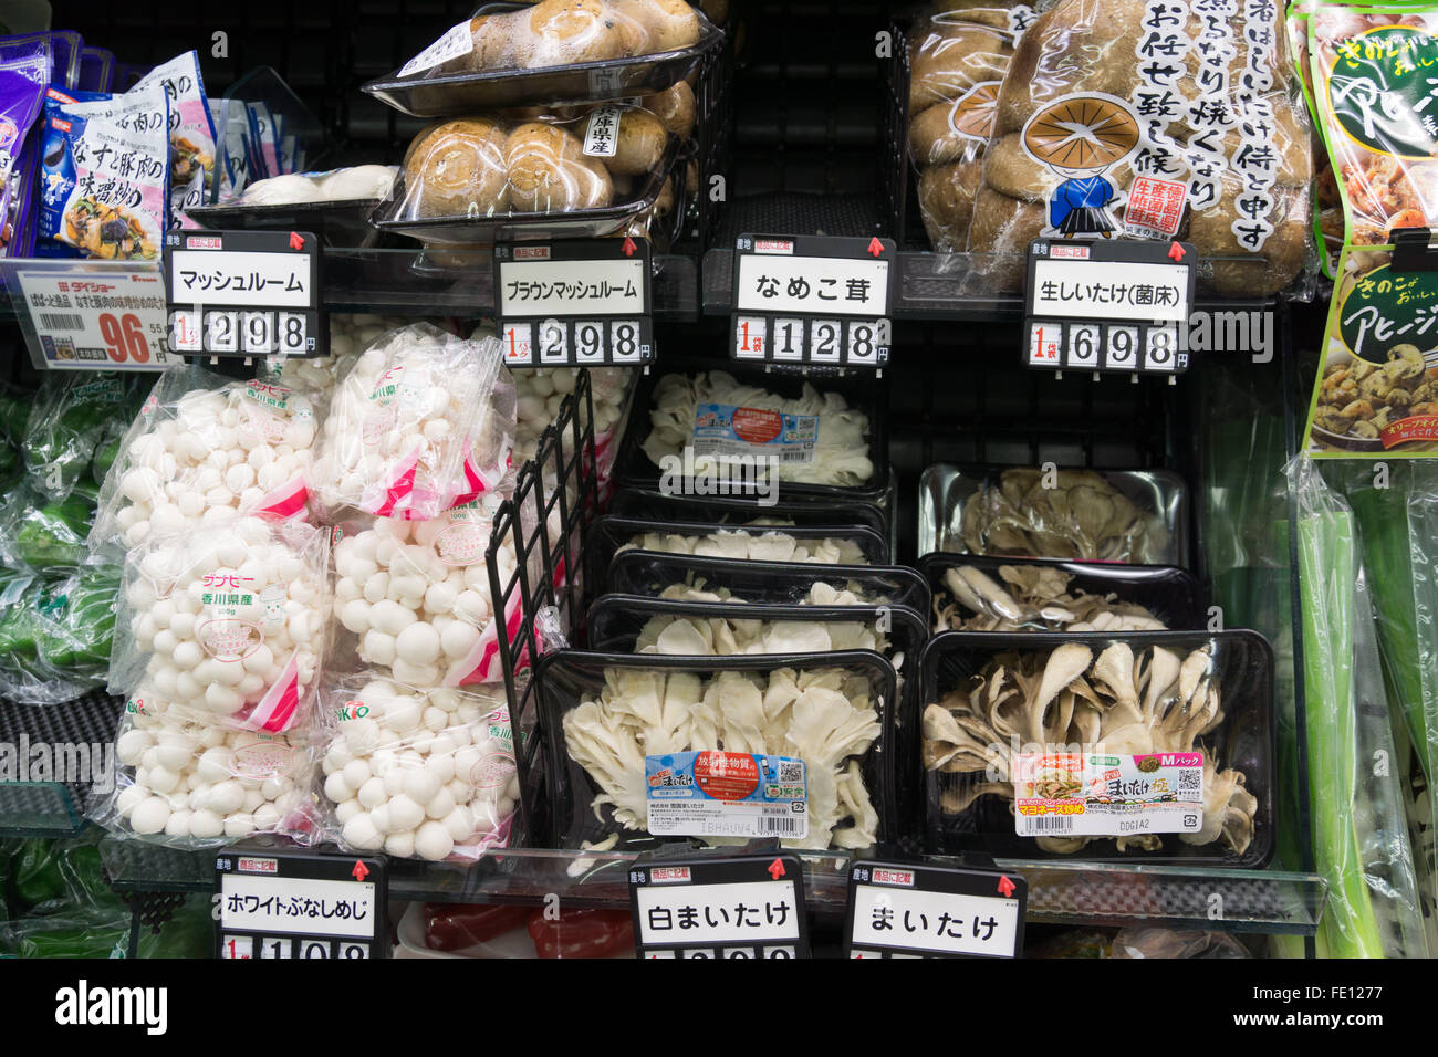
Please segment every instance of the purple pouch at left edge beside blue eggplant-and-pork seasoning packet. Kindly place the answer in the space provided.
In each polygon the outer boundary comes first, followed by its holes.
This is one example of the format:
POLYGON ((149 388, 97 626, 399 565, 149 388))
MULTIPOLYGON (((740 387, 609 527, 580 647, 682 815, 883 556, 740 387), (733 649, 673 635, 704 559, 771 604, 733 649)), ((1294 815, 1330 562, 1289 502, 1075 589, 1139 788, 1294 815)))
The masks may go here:
MULTIPOLYGON (((0 40, 0 255, 16 256, 17 234, 30 219, 27 207, 35 183, 36 157, 26 145, 36 139, 32 125, 40 115, 50 83, 50 42, 33 33, 0 40)), ((33 226, 32 226, 33 229, 33 226)), ((33 237, 33 230, 30 233, 33 237)))

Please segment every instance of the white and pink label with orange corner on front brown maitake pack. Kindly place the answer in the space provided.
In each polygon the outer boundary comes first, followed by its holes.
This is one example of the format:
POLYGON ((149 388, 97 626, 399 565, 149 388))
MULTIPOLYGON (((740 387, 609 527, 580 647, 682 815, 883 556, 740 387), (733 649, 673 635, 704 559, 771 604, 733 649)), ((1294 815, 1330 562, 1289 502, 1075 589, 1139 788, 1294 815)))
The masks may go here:
POLYGON ((1020 837, 1136 837, 1204 828, 1204 754, 1021 752, 1020 837))

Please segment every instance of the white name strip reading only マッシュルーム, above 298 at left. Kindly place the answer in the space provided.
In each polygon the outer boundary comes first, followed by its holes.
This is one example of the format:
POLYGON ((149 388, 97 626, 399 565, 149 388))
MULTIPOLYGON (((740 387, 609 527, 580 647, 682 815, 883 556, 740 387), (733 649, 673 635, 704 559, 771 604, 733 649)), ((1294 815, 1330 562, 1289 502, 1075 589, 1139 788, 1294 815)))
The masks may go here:
POLYGON ((170 276, 170 301, 177 305, 303 309, 312 303, 305 253, 175 249, 170 276))

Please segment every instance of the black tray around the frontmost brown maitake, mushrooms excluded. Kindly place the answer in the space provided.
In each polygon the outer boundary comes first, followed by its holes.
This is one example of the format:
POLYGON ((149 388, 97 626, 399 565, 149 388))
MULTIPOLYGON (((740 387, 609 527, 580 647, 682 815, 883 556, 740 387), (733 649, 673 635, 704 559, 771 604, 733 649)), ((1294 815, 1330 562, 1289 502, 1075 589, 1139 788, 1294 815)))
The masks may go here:
MULTIPOLYGON (((1244 854, 1228 851, 1221 840, 1211 844, 1185 844, 1178 834, 1159 834, 1163 847, 1158 851, 1119 851, 1112 838, 1094 838, 1073 854, 1040 848, 1035 837, 1020 837, 1014 831, 1009 802, 1002 797, 979 797, 966 811, 943 815, 939 811, 938 771, 928 771, 922 762, 920 723, 900 726, 893 739, 899 759, 894 782, 897 787, 923 790, 925 851, 959 854, 982 850, 998 857, 1051 859, 1055 861, 1149 863, 1166 866, 1217 866, 1232 869, 1263 869, 1273 859, 1277 823, 1276 788, 1276 716, 1274 716, 1274 657, 1268 640, 1257 631, 1135 631, 1110 636, 1104 633, 1063 634, 1031 631, 1002 634, 991 631, 945 631, 929 640, 919 663, 919 712, 938 702, 963 679, 976 674, 997 654, 1007 651, 1047 654, 1064 643, 1083 643, 1094 656, 1113 643, 1127 643, 1135 656, 1150 646, 1166 646, 1175 653, 1186 653, 1205 644, 1212 646, 1214 663, 1219 672, 1219 708, 1224 719, 1204 735, 1205 752, 1218 754, 1221 769, 1244 772, 1247 790, 1257 797, 1252 841, 1244 854)), ((956 781, 982 781, 982 772, 956 781)))

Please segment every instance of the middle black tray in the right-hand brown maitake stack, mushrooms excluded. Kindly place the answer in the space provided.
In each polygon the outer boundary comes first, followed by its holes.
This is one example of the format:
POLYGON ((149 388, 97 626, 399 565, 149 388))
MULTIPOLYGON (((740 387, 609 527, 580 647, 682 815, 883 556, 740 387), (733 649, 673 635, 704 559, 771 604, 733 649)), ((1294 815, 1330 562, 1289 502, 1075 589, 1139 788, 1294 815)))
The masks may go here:
MULTIPOLYGON (((948 631, 948 627, 938 627, 938 610, 949 603, 956 603, 953 594, 943 584, 943 574, 959 565, 974 565, 985 574, 998 580, 1001 565, 1047 565, 1063 569, 1073 575, 1068 581, 1070 590, 1083 590, 1090 594, 1114 594, 1119 601, 1137 603, 1149 613, 1162 620, 1171 631, 1202 630, 1208 624, 1204 608, 1204 591, 1198 577, 1188 569, 1172 565, 1119 565, 1109 562, 1060 561, 1055 558, 997 558, 982 554, 951 554, 938 551, 919 559, 919 571, 923 574, 933 592, 933 608, 929 611, 929 623, 938 631, 948 631)), ((1040 634, 1034 628, 1034 634, 1040 634)), ((992 633, 984 634, 1009 634, 992 633)))

